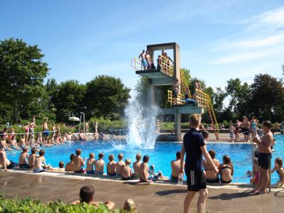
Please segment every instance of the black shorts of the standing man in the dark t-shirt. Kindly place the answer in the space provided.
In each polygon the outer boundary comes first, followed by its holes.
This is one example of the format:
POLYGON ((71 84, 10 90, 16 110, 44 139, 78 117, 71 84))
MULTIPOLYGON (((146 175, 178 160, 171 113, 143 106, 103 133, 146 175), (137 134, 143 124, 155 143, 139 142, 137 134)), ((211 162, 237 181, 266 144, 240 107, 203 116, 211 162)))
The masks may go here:
POLYGON ((202 170, 185 171, 185 175, 187 176, 187 191, 198 192, 207 188, 202 170))

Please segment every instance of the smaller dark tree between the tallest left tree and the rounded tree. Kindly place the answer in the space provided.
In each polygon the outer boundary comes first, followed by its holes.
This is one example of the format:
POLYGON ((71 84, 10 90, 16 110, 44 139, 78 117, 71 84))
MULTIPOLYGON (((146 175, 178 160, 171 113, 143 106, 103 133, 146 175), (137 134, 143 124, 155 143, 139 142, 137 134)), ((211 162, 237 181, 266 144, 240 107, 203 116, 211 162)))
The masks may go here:
POLYGON ((56 109, 56 121, 66 122, 69 116, 80 116, 86 112, 84 97, 86 86, 77 80, 68 80, 58 85, 52 95, 52 103, 56 109))

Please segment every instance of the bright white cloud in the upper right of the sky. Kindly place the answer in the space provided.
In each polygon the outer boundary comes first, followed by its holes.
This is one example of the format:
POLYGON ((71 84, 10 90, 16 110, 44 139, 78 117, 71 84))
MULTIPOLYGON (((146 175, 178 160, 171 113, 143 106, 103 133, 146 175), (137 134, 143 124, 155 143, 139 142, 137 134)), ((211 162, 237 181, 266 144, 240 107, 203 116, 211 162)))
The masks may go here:
POLYGON ((260 60, 284 52, 284 7, 266 11, 240 22, 244 31, 214 44, 212 52, 222 55, 209 64, 260 60))

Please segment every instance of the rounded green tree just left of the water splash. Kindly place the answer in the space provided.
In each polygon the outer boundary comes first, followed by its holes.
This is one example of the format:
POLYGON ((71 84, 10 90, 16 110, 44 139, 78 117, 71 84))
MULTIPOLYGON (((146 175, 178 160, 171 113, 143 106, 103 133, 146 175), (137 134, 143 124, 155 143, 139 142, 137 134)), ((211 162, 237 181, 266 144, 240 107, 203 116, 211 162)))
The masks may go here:
POLYGON ((87 82, 87 118, 119 119, 129 103, 130 90, 119 78, 99 75, 87 82))

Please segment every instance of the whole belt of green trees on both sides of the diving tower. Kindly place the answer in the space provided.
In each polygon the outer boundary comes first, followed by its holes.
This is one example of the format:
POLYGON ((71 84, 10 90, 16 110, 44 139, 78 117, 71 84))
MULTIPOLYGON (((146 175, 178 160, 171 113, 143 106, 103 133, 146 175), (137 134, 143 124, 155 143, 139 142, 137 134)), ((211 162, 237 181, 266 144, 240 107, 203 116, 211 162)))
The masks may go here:
MULTIPOLYGON (((86 84, 77 80, 45 82, 50 69, 43 58, 38 45, 28 45, 15 38, 0 41, 0 124, 7 121, 16 124, 21 119, 31 119, 32 115, 66 122, 69 116, 80 116, 80 112, 84 112, 87 120, 123 118, 131 89, 119 78, 99 75, 86 84)), ((193 92, 198 79, 191 77, 190 70, 183 69, 183 72, 193 92)), ((241 119, 243 115, 256 116, 261 121, 284 119, 284 87, 280 78, 259 74, 250 85, 239 78, 230 79, 224 89, 213 89, 199 81, 204 92, 210 95, 220 123, 241 119), (229 104, 224 104, 225 99, 229 104)), ((146 104, 147 84, 148 80, 141 77, 134 89, 141 104, 146 104)), ((156 104, 161 108, 171 107, 168 89, 171 87, 155 88, 156 104)), ((183 115, 182 121, 187 122, 188 115, 183 115)), ((209 123, 208 114, 204 114, 204 121, 209 123)))

